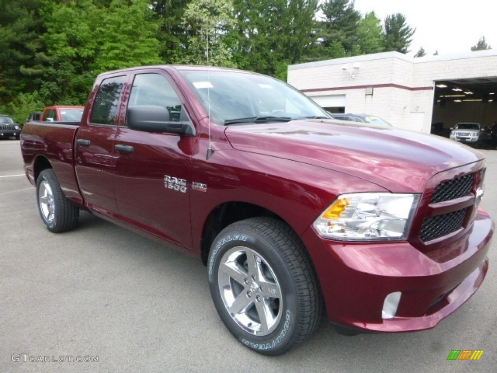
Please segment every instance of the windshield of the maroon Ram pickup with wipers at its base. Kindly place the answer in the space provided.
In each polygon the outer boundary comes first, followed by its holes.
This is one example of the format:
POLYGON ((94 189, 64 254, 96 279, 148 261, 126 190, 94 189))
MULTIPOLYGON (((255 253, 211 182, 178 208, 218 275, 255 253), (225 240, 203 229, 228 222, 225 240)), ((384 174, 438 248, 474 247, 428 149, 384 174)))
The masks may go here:
POLYGON ((220 125, 331 118, 291 86, 239 71, 181 71, 211 120, 220 125))

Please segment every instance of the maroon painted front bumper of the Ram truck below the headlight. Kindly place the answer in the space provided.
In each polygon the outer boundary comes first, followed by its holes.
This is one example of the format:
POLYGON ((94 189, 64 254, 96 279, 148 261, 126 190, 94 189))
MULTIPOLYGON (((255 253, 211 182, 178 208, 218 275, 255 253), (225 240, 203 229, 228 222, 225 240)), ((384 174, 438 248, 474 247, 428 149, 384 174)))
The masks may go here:
POLYGON ((494 229, 479 208, 466 235, 429 256, 409 242, 324 240, 313 228, 302 239, 331 322, 359 332, 407 332, 433 328, 473 295, 487 274, 494 229), (395 315, 383 318, 385 299, 395 292, 395 315))

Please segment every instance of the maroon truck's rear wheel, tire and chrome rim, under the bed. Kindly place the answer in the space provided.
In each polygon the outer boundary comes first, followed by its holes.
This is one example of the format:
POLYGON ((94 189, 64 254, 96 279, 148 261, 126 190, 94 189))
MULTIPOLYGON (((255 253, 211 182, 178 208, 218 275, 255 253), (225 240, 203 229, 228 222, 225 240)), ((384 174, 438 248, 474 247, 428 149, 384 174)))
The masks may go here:
POLYGON ((36 202, 47 229, 61 233, 78 224, 80 209, 64 195, 54 170, 43 170, 36 181, 36 202))

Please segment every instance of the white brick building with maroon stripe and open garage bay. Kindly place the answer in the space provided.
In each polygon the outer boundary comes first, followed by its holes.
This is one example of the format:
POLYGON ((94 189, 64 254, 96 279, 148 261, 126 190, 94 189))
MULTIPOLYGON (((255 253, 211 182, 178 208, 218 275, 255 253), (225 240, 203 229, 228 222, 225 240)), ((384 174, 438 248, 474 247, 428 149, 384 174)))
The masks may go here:
POLYGON ((497 50, 413 58, 398 52, 291 65, 288 83, 332 112, 377 115, 430 132, 497 120, 497 50), (446 87, 443 87, 446 86, 446 87))

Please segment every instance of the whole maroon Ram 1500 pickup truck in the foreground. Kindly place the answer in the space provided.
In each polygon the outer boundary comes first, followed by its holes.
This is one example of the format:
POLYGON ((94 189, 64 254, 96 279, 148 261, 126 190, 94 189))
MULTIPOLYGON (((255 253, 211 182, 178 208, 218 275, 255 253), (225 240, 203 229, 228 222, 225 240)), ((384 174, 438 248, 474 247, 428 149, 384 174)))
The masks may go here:
POLYGON ((482 153, 333 120, 263 75, 101 74, 81 123, 26 123, 21 149, 50 231, 84 209, 198 257, 222 321, 262 354, 324 310, 344 333, 432 328, 487 273, 482 153))

